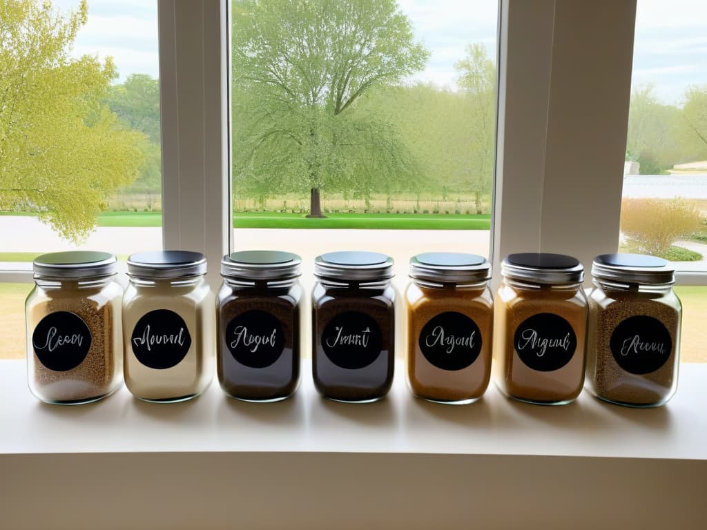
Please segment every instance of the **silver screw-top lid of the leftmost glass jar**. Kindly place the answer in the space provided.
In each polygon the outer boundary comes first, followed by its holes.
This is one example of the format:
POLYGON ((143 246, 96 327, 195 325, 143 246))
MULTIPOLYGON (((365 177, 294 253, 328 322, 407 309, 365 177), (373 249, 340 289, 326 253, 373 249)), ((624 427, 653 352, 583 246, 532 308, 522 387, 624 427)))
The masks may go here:
POLYGON ((33 261, 33 271, 35 279, 83 280, 115 274, 116 262, 110 252, 51 252, 33 261))

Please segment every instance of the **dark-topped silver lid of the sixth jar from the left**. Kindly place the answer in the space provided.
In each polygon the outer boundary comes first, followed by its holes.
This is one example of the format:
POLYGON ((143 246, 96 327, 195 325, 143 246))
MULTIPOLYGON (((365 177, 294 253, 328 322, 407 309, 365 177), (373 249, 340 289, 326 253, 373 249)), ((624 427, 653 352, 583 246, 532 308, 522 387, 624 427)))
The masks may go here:
POLYGON ((501 263, 501 275, 514 280, 549 285, 580 283, 584 267, 578 259, 565 254, 522 252, 508 254, 501 263))

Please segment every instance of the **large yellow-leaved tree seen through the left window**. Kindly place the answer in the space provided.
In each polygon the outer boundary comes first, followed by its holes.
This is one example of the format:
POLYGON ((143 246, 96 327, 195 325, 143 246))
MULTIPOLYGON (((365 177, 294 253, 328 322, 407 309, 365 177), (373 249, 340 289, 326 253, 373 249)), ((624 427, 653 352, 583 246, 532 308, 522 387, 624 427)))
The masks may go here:
POLYGON ((69 54, 87 12, 0 0, 0 209, 37 211, 74 239, 136 178, 144 138, 101 103, 112 61, 69 54))

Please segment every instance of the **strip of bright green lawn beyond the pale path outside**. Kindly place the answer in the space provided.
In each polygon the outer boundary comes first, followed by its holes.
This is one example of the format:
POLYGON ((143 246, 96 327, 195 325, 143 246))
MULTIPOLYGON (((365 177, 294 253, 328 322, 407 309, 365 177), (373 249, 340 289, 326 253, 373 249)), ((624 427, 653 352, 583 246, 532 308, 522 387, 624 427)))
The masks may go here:
MULTIPOLYGON (((32 215, 0 212, 0 215, 32 215)), ((162 226, 159 212, 105 211, 98 226, 162 226)), ((234 228, 366 228, 400 230, 489 230, 491 216, 436 213, 330 213, 323 219, 279 212, 234 213, 234 228)))

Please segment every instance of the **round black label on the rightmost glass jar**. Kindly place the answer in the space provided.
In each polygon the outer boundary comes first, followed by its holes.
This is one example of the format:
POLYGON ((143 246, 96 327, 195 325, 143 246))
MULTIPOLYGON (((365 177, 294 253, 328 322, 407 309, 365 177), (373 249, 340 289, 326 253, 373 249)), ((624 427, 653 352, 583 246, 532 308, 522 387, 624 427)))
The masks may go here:
POLYGON ((614 328, 609 341, 617 364, 632 374, 655 372, 672 353, 672 338, 653 317, 629 317, 614 328))

